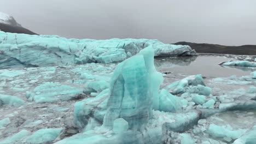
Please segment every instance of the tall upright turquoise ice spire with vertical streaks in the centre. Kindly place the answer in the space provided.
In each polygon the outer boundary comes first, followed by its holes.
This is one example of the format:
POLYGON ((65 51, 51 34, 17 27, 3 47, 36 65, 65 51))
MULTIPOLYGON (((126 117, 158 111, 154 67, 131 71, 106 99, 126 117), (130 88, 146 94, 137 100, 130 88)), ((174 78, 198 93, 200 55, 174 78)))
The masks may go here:
POLYGON ((121 117, 129 123, 129 129, 140 129, 152 117, 153 106, 159 107, 158 90, 162 79, 154 67, 152 47, 120 63, 110 80, 104 127, 112 129, 114 120, 121 117))

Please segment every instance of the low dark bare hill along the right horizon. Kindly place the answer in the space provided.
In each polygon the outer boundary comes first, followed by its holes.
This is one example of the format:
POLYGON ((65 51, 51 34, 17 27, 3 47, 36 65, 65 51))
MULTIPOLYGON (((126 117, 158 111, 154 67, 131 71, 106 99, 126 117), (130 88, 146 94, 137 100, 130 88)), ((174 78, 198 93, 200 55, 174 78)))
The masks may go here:
POLYGON ((197 44, 181 41, 175 45, 189 45, 198 53, 218 53, 231 55, 256 55, 256 45, 225 46, 215 44, 197 44))

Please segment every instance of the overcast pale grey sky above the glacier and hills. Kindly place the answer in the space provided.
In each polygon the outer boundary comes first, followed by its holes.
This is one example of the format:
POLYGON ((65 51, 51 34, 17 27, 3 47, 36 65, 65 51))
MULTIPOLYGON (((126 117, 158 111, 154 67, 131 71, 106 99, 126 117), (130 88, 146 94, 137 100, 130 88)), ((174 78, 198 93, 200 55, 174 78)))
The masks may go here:
POLYGON ((38 34, 256 45, 255 0, 0 0, 38 34))

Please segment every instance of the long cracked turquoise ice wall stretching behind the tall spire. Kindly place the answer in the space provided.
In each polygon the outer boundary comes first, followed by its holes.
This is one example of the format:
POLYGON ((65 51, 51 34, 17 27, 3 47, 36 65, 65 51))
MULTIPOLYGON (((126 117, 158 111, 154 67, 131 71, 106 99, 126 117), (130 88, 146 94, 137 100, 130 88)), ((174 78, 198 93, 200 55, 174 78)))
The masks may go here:
POLYGON ((66 39, 56 35, 0 32, 0 69, 85 63, 114 63, 152 46, 155 57, 196 56, 188 45, 149 39, 66 39))

